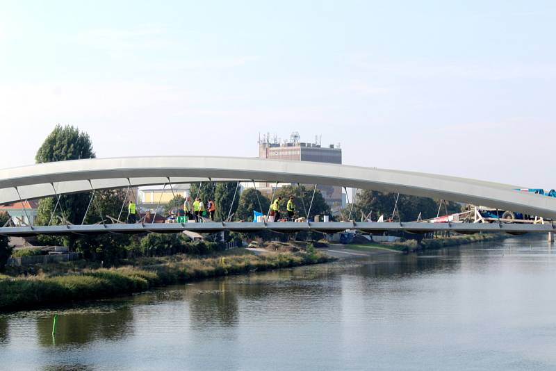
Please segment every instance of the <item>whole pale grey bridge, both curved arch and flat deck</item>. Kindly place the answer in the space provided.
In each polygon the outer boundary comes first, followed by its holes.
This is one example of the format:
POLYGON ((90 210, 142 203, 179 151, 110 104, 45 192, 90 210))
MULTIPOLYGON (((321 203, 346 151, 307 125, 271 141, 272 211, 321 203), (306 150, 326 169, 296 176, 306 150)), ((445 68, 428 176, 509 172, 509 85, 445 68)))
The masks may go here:
MULTIPOLYGON (((475 179, 384 170, 375 167, 357 167, 327 163, 311 163, 258 158, 227 158, 202 156, 156 156, 126 158, 94 158, 56 163, 43 163, 0 170, 0 204, 15 201, 55 197, 78 192, 131 188, 137 186, 172 186, 203 181, 248 181, 269 183, 303 183, 398 192, 405 195, 432 197, 450 201, 489 206, 537 215, 547 220, 556 217, 556 198, 516 192, 513 186, 475 179)), ((86 215, 87 211, 83 211, 86 215)), ((84 220, 84 217, 83 217, 84 220)), ((187 224, 92 224, 49 226, 1 226, 5 236, 37 234, 90 234, 90 233, 145 233, 213 231, 322 231, 332 233, 345 229, 378 233, 381 231, 505 231, 508 233, 547 232, 555 226, 549 224, 473 224, 426 222, 208 222, 187 224)))

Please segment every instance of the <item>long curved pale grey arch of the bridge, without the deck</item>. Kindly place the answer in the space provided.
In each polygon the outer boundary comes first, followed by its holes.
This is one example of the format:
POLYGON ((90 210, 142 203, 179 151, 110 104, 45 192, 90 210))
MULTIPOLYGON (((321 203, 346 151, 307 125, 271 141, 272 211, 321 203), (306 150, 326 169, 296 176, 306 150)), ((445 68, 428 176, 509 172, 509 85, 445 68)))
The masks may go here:
POLYGON ((556 218, 556 198, 519 186, 418 172, 327 163, 211 156, 60 161, 0 170, 0 204, 91 189, 198 181, 270 181, 399 192, 556 218))

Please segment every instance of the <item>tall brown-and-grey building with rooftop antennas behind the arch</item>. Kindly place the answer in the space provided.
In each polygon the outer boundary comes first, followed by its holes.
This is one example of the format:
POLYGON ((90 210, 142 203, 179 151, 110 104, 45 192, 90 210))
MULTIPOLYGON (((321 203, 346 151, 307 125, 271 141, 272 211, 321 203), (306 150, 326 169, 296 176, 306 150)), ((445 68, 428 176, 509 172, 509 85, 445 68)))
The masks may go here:
MULTIPOLYGON (((279 141, 275 137, 272 142, 270 135, 259 138, 259 158, 270 158, 275 160, 312 161, 316 163, 342 163, 342 149, 340 145, 329 145, 322 147, 320 137, 315 137, 314 142, 301 142, 299 133, 292 133, 289 140, 279 141)), ((270 187, 270 184, 266 185, 270 187)), ((313 185, 306 185, 313 187, 313 185)), ((318 185, 322 196, 332 209, 333 213, 339 211, 344 204, 342 188, 318 185)))

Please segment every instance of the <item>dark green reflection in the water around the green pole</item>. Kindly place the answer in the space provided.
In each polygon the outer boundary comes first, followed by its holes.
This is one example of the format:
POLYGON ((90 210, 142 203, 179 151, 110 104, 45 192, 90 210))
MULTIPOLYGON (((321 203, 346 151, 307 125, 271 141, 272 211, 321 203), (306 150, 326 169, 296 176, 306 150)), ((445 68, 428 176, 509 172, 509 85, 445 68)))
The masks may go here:
POLYGON ((82 345, 95 340, 119 340, 130 335, 133 312, 129 306, 98 311, 66 311, 58 315, 56 338, 52 338, 53 317, 37 319, 38 343, 82 345))

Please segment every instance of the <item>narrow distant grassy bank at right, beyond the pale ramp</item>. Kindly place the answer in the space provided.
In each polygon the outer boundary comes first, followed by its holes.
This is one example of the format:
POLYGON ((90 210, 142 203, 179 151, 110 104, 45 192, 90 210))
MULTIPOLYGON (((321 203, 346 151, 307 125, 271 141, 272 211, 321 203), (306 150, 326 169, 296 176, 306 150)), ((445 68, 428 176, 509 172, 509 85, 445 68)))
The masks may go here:
POLYGON ((407 240, 404 242, 389 242, 389 243, 370 243, 365 245, 346 245, 350 249, 364 250, 369 247, 390 249, 396 252, 414 252, 418 250, 434 250, 442 249, 443 247, 466 245, 473 242, 486 242, 493 240, 502 240, 507 238, 503 233, 477 233, 473 235, 455 235, 447 238, 427 238, 420 242, 417 240, 407 240))

